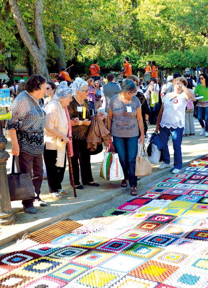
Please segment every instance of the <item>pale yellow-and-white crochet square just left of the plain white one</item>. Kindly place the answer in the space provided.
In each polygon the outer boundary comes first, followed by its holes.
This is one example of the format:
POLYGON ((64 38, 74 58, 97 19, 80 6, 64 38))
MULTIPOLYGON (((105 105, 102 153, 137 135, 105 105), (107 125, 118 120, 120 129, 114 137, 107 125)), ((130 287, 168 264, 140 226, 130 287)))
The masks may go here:
POLYGON ((86 254, 73 259, 71 262, 92 268, 101 264, 114 255, 115 253, 91 250, 86 254))

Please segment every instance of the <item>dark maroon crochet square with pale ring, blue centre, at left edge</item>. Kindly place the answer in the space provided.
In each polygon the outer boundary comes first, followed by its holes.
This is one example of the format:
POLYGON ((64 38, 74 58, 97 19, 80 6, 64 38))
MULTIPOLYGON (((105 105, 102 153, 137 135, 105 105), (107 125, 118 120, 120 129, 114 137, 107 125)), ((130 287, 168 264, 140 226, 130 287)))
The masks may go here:
POLYGON ((39 255, 28 251, 11 252, 0 257, 0 267, 6 271, 11 271, 39 257, 39 255))

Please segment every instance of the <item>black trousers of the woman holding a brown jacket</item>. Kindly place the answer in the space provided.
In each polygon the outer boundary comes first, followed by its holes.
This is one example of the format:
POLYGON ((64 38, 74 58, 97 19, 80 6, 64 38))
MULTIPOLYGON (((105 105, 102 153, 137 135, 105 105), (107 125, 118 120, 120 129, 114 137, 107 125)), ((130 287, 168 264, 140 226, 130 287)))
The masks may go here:
MULTIPOLYGON (((72 144, 74 156, 71 157, 71 161, 75 185, 80 185, 80 173, 83 185, 93 182, 90 154, 87 149, 86 139, 73 139, 72 144)), ((71 177, 70 183, 72 184, 71 177)))

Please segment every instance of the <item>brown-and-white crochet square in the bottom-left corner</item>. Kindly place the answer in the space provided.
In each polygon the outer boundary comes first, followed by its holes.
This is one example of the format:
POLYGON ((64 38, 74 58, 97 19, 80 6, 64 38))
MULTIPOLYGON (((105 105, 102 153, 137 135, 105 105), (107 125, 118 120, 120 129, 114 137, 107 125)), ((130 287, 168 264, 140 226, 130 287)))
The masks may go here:
POLYGON ((16 273, 7 273, 0 278, 1 288, 19 288, 25 284, 30 283, 33 278, 28 276, 21 276, 16 273))

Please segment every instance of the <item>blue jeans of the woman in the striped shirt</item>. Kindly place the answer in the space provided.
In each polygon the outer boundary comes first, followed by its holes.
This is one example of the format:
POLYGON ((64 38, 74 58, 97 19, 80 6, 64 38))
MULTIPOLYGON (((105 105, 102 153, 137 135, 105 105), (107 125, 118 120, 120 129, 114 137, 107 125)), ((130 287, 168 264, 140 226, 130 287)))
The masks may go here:
POLYGON ((138 151, 138 136, 127 138, 113 136, 113 143, 115 152, 119 155, 124 178, 128 179, 130 187, 136 187, 137 176, 135 176, 135 165, 138 151))

